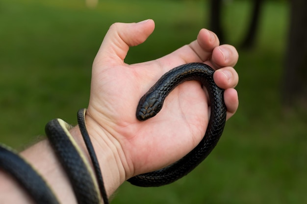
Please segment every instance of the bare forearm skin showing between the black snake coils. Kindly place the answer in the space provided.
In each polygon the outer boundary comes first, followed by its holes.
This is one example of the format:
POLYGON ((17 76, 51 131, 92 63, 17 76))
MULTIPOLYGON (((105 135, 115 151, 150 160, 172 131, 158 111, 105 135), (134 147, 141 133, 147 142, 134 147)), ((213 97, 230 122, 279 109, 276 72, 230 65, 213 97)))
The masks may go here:
MULTIPOLYGON (((96 134, 95 132, 95 130, 89 129, 90 134, 96 134)), ((73 128, 70 133, 91 163, 78 127, 73 128)), ((104 186, 109 196, 125 181, 125 176, 122 174, 123 171, 121 171, 121 168, 118 167, 119 162, 117 161, 117 156, 112 152, 112 148, 109 146, 110 144, 104 142, 103 139, 98 144, 95 138, 99 137, 91 136, 94 149, 99 159, 104 186)), ((21 156, 47 181, 60 203, 77 204, 71 183, 47 139, 21 152, 21 156)), ((23 187, 3 171, 0 171, 0 183, 0 203, 33 203, 23 187)))

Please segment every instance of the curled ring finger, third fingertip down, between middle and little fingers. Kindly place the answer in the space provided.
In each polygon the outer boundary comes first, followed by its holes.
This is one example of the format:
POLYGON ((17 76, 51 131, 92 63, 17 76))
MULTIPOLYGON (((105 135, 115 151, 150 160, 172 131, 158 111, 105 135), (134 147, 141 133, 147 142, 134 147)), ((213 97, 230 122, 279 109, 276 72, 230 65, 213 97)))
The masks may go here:
POLYGON ((222 89, 234 88, 239 82, 238 73, 232 67, 217 69, 213 74, 216 85, 222 89))

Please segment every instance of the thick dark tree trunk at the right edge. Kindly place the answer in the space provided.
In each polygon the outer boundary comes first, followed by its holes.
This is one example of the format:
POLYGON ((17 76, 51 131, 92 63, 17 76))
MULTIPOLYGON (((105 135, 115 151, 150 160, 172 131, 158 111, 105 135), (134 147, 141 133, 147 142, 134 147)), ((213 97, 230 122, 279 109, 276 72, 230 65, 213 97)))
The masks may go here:
POLYGON ((290 29, 282 82, 287 108, 307 107, 307 0, 291 0, 290 29))

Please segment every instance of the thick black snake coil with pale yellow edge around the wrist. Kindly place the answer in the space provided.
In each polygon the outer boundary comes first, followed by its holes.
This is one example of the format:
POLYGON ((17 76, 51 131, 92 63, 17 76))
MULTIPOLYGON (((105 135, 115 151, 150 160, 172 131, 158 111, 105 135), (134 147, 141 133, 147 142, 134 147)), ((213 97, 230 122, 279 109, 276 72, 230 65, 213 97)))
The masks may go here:
POLYGON ((62 119, 53 119, 45 127, 50 144, 64 167, 79 204, 101 204, 98 183, 89 162, 73 136, 71 125, 62 119))

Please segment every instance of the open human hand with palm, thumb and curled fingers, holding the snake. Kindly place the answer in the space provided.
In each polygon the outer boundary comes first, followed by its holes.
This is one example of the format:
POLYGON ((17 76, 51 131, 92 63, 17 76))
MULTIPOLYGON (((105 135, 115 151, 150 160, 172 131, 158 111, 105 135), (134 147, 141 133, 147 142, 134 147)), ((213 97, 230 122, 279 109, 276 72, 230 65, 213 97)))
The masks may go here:
MULTIPOLYGON (((238 107, 234 87, 238 59, 231 45, 219 45, 217 36, 202 29, 189 45, 153 61, 128 65, 130 46, 143 43, 153 32, 152 20, 114 23, 107 32, 92 69, 86 122, 90 136, 114 153, 124 179, 160 169, 182 158, 205 135, 209 120, 208 98, 197 81, 179 85, 166 98, 162 110, 140 122, 135 112, 139 99, 168 70, 190 62, 203 62, 217 71, 214 81, 225 89, 227 118, 238 107)), ((98 156, 103 149, 98 150, 98 156)))

